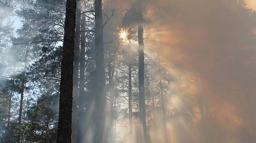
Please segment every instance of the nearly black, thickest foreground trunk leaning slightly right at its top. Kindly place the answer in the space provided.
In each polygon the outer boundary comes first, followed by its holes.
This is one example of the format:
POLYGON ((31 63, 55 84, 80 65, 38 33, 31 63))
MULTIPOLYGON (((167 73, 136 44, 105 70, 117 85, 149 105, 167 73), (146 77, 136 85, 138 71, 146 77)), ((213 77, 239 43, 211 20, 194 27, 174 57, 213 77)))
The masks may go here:
POLYGON ((71 143, 76 0, 66 1, 57 143, 71 143))

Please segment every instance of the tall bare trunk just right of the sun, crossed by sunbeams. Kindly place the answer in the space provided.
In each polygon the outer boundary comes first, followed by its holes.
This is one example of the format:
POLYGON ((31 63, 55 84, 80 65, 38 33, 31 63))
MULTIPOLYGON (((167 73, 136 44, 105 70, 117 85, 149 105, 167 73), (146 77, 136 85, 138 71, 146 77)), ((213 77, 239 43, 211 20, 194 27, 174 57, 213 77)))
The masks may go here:
POLYGON ((145 107, 145 86, 144 86, 144 39, 143 39, 143 14, 142 0, 138 0, 138 42, 139 42, 139 103, 140 122, 142 125, 143 142, 147 143, 147 124, 145 107))

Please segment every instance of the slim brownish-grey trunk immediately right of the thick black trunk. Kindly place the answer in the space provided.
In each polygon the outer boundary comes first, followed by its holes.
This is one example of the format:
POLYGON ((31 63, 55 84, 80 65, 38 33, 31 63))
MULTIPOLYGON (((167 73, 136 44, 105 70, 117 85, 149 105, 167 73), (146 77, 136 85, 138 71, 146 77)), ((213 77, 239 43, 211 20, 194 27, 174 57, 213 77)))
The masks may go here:
POLYGON ((80 25, 81 9, 77 0, 76 25, 75 25, 75 50, 74 50, 74 75, 73 75, 73 103, 72 103, 72 143, 76 143, 78 119, 78 80, 79 80, 79 53, 80 53, 80 25))

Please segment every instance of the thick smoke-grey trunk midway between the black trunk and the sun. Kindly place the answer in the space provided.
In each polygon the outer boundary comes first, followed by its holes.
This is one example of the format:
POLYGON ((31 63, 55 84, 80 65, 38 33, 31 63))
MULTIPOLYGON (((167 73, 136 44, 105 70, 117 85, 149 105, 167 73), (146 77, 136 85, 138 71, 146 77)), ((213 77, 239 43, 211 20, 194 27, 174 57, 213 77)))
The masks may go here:
POLYGON ((104 138, 106 126, 106 91, 104 74, 103 20, 102 0, 95 0, 95 143, 106 143, 104 138))

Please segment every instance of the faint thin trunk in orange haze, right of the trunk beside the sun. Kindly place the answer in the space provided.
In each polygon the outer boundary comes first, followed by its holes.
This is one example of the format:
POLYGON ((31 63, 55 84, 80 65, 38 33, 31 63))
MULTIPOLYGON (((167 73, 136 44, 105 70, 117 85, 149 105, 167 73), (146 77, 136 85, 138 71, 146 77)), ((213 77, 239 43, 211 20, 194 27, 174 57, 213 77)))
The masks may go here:
POLYGON ((169 143, 167 129, 166 129, 165 101, 164 101, 164 95, 163 95, 162 80, 160 81, 160 94, 161 94, 161 103, 162 103, 162 120, 163 120, 163 130, 164 130, 165 143, 169 143))

